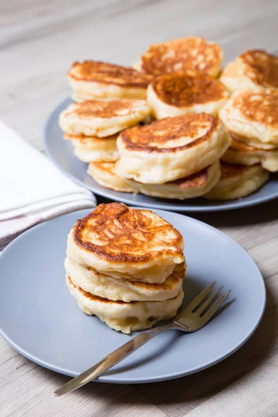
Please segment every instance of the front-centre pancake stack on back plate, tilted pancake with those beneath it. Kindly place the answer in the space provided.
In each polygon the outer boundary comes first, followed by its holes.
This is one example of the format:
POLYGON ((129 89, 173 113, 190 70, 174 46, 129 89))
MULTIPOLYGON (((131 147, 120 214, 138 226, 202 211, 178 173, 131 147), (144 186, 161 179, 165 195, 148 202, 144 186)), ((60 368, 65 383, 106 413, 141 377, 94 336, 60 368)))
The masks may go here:
POLYGON ((88 173, 115 190, 164 198, 199 197, 219 181, 219 159, 230 142, 222 123, 212 115, 167 117, 120 133, 117 163, 90 163, 88 173))

